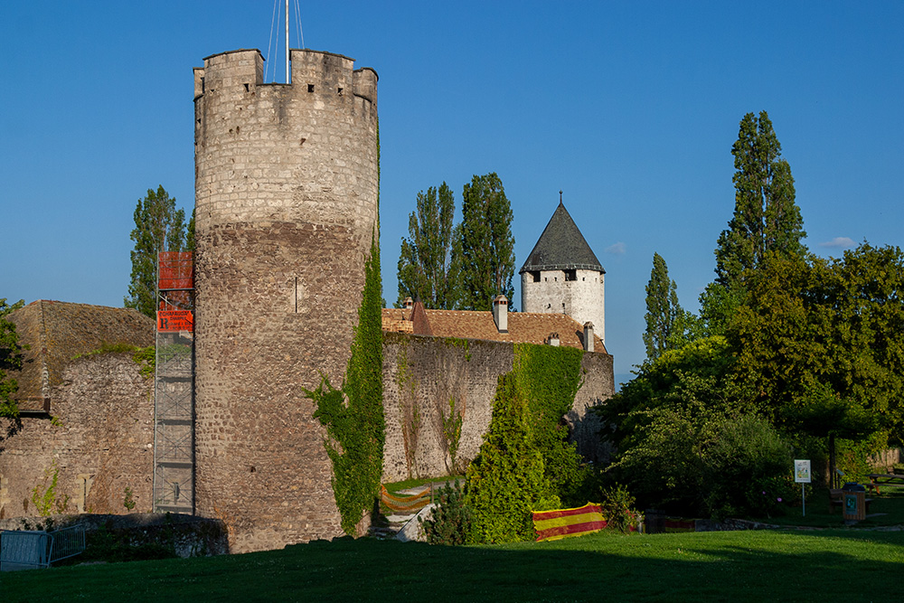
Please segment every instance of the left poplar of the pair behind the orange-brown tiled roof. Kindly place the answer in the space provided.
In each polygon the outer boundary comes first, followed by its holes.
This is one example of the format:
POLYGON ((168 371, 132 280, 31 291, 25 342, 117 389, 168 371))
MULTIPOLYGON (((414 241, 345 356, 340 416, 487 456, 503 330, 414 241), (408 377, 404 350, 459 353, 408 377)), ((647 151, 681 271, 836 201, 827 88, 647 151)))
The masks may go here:
POLYGON ((408 219, 408 238, 401 240, 399 304, 419 299, 432 309, 456 305, 457 271, 452 261, 455 199, 444 182, 418 193, 417 210, 408 219))

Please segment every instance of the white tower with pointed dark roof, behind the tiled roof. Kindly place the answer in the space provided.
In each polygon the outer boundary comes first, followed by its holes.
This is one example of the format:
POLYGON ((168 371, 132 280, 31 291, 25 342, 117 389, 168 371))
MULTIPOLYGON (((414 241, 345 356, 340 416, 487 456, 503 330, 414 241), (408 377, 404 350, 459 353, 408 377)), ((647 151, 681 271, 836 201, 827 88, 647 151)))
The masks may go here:
POLYGON ((606 270, 561 200, 520 272, 523 312, 592 323, 606 342, 606 270))

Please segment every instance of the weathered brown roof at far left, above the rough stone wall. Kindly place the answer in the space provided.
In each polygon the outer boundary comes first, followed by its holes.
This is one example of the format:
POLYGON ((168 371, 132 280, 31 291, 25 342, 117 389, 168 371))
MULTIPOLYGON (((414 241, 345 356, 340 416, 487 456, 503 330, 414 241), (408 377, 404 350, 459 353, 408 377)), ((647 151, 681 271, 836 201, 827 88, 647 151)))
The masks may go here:
POLYGON ((15 397, 23 410, 42 408, 50 389, 62 380, 63 368, 75 356, 99 349, 103 344, 154 344, 154 321, 137 310, 124 307, 90 306, 41 299, 9 316, 27 344, 15 397))

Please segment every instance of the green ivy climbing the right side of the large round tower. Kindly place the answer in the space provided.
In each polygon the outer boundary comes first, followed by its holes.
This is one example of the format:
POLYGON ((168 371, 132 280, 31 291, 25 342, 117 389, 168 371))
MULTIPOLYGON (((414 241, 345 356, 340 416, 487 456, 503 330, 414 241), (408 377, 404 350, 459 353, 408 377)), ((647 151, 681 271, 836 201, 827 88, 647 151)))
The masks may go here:
MULTIPOLYGON (((377 128, 377 208, 380 207, 380 129, 377 128)), ((355 535, 363 513, 372 509, 383 472, 383 334, 379 221, 364 261, 364 291, 354 328, 352 355, 341 389, 324 377, 315 391, 315 419, 326 428, 326 454, 333 464, 333 495, 342 529, 355 535)))

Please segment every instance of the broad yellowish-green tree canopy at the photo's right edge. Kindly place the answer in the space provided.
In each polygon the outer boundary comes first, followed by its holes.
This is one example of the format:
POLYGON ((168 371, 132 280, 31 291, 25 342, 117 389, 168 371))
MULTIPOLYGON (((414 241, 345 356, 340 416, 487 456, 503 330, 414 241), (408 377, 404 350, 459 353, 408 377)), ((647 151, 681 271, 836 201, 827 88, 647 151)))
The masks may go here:
POLYGON ((767 257, 728 326, 736 379, 777 426, 843 438, 904 428, 904 255, 767 257))

